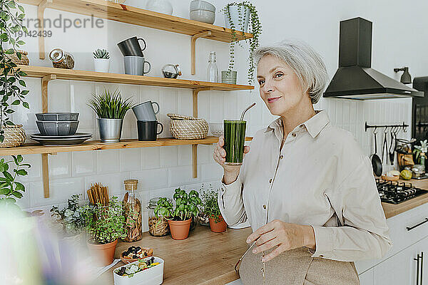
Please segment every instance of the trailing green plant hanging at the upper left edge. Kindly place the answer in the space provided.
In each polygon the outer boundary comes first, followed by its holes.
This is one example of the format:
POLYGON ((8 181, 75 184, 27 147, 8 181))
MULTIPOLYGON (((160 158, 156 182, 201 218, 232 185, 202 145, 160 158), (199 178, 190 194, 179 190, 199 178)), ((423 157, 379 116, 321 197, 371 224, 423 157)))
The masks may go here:
POLYGON ((19 46, 25 44, 19 36, 19 31, 28 33, 24 21, 24 8, 14 0, 0 0, 0 142, 4 141, 4 130, 8 125, 15 125, 9 117, 15 112, 12 105, 22 104, 29 109, 29 103, 25 101, 25 95, 29 90, 21 90, 26 87, 21 76, 26 76, 21 68, 11 60, 11 55, 21 60, 22 54, 18 51, 19 46), (8 47, 6 47, 6 45, 8 47), (14 99, 11 103, 9 100, 14 99))

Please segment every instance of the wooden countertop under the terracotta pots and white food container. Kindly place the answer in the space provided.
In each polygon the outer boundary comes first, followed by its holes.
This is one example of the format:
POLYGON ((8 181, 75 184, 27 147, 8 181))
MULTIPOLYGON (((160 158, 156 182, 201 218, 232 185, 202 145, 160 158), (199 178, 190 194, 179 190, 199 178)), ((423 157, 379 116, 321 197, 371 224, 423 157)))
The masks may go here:
MULTIPOLYGON (((115 258, 128 247, 140 246, 153 248, 153 254, 165 260, 163 284, 228 284, 239 279, 234 267, 236 261, 247 250, 245 239, 251 234, 251 228, 227 229, 217 234, 210 227, 197 226, 187 239, 176 241, 170 236, 152 237, 143 233, 138 242, 119 242, 115 258)), ((120 261, 113 268, 123 266, 120 261)), ((103 277, 106 284, 113 284, 113 269, 106 271, 103 277)))

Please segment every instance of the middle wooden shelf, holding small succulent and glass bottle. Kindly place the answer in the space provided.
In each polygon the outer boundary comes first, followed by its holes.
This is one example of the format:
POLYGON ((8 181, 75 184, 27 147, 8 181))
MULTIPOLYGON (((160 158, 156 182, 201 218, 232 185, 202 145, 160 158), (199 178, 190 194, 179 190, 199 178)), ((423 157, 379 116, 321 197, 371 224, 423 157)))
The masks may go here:
MULTIPOLYGON (((119 73, 103 73, 95 71, 76 71, 73 69, 53 68, 43 66, 19 66, 29 77, 45 78, 56 76, 56 79, 72 81, 94 81, 106 83, 135 84, 144 86, 163 86, 173 88, 203 89, 203 90, 253 90, 254 86, 213 83, 205 81, 189 81, 184 79, 161 78, 151 76, 131 76, 119 73)), ((55 78, 54 78, 55 79, 55 78)))

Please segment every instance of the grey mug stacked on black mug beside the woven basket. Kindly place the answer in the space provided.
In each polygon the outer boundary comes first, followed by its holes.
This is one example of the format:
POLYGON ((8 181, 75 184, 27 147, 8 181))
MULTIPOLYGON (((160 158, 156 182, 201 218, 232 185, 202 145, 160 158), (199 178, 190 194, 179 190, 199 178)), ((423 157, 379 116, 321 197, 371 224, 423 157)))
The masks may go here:
POLYGON ((138 140, 156 140, 158 135, 163 132, 163 125, 156 119, 156 114, 159 113, 159 104, 154 101, 147 101, 134 106, 132 110, 137 118, 138 140), (153 105, 156 105, 158 109, 156 112, 153 105), (158 125, 161 125, 160 132, 158 132, 158 125))

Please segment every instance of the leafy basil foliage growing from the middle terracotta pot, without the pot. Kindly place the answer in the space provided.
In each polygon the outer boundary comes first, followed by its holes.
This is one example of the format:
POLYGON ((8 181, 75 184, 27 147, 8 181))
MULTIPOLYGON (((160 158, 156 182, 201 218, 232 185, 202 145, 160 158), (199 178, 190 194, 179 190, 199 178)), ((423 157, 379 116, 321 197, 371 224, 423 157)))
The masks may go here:
POLYGON ((158 199, 158 205, 154 210, 156 217, 163 216, 174 221, 185 221, 198 214, 202 200, 195 190, 187 193, 178 187, 175 189, 173 198, 175 207, 165 197, 158 199))

